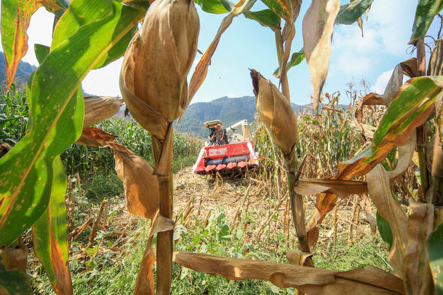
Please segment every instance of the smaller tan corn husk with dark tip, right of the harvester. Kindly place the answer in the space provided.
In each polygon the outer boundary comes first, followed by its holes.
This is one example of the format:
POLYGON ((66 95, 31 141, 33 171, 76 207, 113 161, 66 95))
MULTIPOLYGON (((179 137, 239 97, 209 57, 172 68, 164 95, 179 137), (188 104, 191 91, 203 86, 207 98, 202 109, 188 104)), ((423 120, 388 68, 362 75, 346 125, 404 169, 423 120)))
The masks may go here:
POLYGON ((251 70, 255 107, 273 142, 286 155, 291 154, 297 142, 297 118, 291 103, 278 88, 255 70, 251 70))

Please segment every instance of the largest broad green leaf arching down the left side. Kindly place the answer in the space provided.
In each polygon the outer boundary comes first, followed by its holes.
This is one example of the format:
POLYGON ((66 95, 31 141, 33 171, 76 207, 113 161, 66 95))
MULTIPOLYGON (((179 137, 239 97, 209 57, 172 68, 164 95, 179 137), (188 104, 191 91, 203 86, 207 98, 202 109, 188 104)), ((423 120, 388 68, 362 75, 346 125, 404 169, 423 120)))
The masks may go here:
MULTIPOLYGON (((118 40, 144 15, 116 1, 73 0, 69 9, 107 10, 72 35, 57 37, 51 53, 33 75, 28 99, 33 128, 0 159, 0 245, 8 245, 42 215, 51 194, 53 158, 82 132, 80 82, 118 40), (78 6, 76 6, 78 5, 78 6), (60 38, 60 39, 59 39, 60 38), (60 42, 60 43, 58 43, 60 42), (77 91, 77 94, 75 94, 77 91), (28 196, 34 196, 33 199, 28 196), (17 225, 11 227, 10 225, 17 225)), ((70 26, 62 17, 57 30, 70 26)))

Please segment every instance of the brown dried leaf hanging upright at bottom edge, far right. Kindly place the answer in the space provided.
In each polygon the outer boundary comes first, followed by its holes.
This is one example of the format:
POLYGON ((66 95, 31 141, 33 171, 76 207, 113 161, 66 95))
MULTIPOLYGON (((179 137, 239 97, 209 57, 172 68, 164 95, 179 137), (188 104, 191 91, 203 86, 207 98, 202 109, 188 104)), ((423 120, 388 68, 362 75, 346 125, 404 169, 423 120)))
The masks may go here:
POLYGON ((429 267, 428 239, 433 232, 433 204, 410 204, 409 236, 403 261, 403 272, 408 294, 435 294, 429 267))

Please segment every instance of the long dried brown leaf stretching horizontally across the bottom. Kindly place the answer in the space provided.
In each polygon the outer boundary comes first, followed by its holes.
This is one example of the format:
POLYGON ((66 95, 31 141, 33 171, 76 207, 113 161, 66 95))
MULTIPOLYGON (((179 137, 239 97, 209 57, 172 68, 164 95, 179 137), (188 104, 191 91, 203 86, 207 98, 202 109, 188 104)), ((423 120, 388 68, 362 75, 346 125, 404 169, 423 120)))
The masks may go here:
POLYGON ((226 258, 189 252, 174 252, 173 260, 197 272, 230 280, 268 280, 278 287, 295 287, 308 294, 402 294, 401 280, 373 267, 339 272, 260 260, 226 258), (348 274, 349 273, 349 274, 348 274), (374 275, 377 274, 377 275, 374 275), (372 276, 372 278, 371 278, 372 276))

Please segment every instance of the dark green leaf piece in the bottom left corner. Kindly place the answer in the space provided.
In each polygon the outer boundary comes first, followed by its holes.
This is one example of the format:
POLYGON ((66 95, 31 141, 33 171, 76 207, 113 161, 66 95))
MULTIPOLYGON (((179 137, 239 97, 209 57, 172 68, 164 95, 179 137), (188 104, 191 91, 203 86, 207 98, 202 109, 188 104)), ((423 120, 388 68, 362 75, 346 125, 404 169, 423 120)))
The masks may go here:
POLYGON ((18 270, 6 270, 0 256, 0 294, 33 294, 28 278, 18 270))

